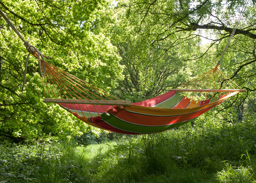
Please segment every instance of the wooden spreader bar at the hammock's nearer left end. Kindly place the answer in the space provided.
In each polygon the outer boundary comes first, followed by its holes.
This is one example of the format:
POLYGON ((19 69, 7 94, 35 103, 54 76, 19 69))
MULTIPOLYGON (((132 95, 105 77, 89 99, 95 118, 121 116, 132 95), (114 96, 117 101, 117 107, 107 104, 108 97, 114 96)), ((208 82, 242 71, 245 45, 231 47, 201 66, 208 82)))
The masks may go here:
POLYGON ((131 105, 131 101, 119 101, 119 100, 80 100, 80 99, 44 99, 43 102, 52 102, 52 103, 64 103, 64 104, 91 104, 91 105, 122 105, 129 106, 131 105))

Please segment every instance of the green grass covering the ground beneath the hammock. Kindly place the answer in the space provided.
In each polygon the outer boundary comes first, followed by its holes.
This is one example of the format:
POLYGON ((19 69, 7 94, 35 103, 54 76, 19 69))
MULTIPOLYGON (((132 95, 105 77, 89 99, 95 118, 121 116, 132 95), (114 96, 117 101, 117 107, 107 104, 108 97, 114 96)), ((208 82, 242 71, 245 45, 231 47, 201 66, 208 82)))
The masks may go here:
POLYGON ((255 162, 254 121, 201 123, 86 146, 2 142, 0 183, 252 183, 255 162))

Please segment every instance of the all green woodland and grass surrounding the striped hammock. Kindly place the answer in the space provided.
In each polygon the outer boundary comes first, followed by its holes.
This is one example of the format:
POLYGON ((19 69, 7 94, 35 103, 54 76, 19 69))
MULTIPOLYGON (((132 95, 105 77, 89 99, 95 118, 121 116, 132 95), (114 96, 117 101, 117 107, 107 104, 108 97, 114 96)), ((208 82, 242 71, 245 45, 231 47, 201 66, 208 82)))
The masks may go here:
MULTIPOLYGON (((214 68, 244 3, 1 0, 0 9, 25 40, 52 57, 50 64, 139 102, 214 68)), ((256 181, 254 0, 221 61, 223 72, 247 92, 198 117, 193 127, 140 137, 90 127, 42 102, 32 57, 21 92, 26 56, 0 17, 1 182, 256 181)))

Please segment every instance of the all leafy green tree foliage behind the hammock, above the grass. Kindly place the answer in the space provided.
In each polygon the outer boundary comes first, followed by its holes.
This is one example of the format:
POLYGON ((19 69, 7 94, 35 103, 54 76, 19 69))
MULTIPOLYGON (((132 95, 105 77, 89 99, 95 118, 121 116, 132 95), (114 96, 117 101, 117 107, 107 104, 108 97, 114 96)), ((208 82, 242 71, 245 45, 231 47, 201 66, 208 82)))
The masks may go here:
MULTIPOLYGON (((30 44, 52 57, 48 62, 120 99, 138 102, 214 67, 243 4, 124 0, 113 6, 105 0, 5 0, 0 8, 30 44), (202 30, 214 35, 211 44, 201 45, 202 30)), ((238 113, 241 121, 255 112, 255 12, 249 3, 221 62, 224 73, 248 90, 217 107, 236 108, 220 112, 217 116, 225 116, 221 120, 234 121, 238 113)), ((99 134, 60 107, 41 102, 41 78, 32 58, 20 92, 26 58, 22 45, 1 18, 0 134, 17 142, 49 134, 71 138, 90 130, 99 134)))

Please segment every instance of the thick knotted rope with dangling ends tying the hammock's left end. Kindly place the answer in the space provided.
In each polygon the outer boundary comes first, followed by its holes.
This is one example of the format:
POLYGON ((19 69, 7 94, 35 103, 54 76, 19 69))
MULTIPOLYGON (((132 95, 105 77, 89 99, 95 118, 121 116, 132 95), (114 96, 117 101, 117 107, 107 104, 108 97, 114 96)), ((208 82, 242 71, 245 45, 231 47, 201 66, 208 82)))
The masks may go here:
POLYGON ((25 83, 26 83, 26 71, 27 71, 27 65, 28 65, 28 61, 29 61, 29 56, 30 54, 35 54, 37 53, 38 56, 38 67, 39 67, 39 74, 41 77, 43 77, 45 75, 45 61, 44 58, 48 58, 51 59, 50 57, 47 57, 45 55, 43 55, 38 49, 36 49, 35 46, 32 46, 31 44, 29 44, 29 41, 26 41, 22 35, 20 35, 20 32, 17 31, 17 29, 15 28, 15 26, 12 24, 12 22, 6 17, 6 15, 4 15, 4 13, 2 12, 2 10, 0 9, 0 14, 3 17, 4 20, 6 20, 6 22, 9 24, 9 26, 14 30, 14 32, 20 37, 20 39, 24 42, 24 45, 26 46, 26 50, 29 52, 29 54, 27 55, 26 58, 26 64, 25 64, 25 70, 24 70, 24 75, 23 75, 23 85, 21 87, 21 91, 23 91, 25 83), (43 73, 41 70, 41 60, 43 62, 43 73))

